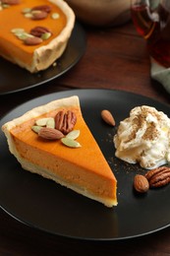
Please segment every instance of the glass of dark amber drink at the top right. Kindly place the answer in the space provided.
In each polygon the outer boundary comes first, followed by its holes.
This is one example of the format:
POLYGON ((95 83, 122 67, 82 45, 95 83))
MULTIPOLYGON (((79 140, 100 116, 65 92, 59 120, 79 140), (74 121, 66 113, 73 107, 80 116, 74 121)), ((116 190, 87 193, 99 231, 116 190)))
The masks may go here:
POLYGON ((150 56, 170 67, 170 0, 132 0, 131 13, 150 56))

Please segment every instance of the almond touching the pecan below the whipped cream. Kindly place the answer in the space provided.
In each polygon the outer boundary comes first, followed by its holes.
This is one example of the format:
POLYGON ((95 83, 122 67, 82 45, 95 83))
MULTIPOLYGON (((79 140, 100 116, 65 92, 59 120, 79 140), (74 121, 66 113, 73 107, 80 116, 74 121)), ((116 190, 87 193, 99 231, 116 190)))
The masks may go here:
POLYGON ((134 179, 134 188, 140 193, 145 193, 149 189, 149 183, 146 177, 137 174, 134 179))

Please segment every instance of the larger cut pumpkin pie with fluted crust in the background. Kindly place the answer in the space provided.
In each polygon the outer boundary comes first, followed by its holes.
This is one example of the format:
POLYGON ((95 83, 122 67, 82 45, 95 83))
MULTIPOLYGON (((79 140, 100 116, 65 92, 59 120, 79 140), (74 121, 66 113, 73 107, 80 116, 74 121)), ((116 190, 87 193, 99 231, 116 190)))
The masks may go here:
POLYGON ((0 55, 34 73, 64 52, 75 14, 62 0, 2 0, 0 55))

